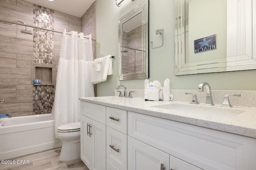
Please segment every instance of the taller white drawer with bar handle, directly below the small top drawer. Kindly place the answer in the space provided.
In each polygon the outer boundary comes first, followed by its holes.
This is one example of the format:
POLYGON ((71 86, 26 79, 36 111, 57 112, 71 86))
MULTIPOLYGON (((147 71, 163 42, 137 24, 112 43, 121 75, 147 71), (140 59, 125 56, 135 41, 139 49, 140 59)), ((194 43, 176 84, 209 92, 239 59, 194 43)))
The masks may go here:
POLYGON ((127 135, 107 126, 107 159, 119 170, 127 170, 127 135))

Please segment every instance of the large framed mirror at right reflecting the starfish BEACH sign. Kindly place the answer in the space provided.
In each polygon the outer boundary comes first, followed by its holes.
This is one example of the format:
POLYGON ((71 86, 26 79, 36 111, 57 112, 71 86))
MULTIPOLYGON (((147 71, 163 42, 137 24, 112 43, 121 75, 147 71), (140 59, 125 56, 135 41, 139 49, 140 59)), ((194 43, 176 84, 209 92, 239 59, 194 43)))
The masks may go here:
POLYGON ((256 69, 255 0, 175 0, 175 73, 256 69))

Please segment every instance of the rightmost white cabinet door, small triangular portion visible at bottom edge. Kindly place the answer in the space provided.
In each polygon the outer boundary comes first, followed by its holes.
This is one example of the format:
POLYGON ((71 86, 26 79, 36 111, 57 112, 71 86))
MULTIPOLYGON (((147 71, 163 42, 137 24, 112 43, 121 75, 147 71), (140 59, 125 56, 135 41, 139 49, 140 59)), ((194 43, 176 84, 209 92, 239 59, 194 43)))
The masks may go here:
POLYGON ((171 170, 202 170, 172 155, 170 155, 170 168, 171 170))

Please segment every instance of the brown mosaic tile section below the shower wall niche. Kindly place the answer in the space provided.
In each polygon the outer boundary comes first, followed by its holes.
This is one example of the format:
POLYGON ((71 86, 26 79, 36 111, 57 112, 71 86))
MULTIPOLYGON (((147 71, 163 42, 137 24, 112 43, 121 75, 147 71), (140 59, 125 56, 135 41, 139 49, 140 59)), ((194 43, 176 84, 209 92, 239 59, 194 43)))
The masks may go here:
POLYGON ((33 114, 52 113, 54 86, 33 87, 33 114))

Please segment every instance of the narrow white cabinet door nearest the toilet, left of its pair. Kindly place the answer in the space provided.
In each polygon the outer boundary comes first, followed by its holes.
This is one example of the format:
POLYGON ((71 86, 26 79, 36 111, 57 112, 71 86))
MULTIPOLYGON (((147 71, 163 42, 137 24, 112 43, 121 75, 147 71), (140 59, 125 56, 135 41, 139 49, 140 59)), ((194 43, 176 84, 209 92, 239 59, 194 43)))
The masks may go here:
POLYGON ((91 119, 81 115, 81 134, 80 134, 80 150, 81 150, 81 160, 86 164, 88 168, 91 166, 92 156, 91 156, 91 137, 87 133, 89 132, 89 127, 91 125, 91 119))

